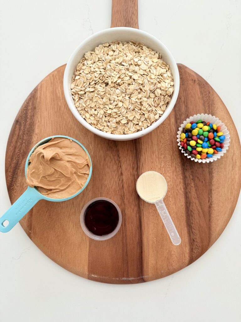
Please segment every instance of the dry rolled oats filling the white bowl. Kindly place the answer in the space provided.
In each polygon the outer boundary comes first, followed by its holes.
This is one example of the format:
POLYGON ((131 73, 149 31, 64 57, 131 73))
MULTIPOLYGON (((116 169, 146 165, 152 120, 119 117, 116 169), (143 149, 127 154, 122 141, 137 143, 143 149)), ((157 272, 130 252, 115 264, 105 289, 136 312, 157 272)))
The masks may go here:
POLYGON ((104 43, 86 52, 71 82, 80 115, 112 134, 131 134, 153 124, 173 90, 172 72, 161 55, 134 42, 104 43))

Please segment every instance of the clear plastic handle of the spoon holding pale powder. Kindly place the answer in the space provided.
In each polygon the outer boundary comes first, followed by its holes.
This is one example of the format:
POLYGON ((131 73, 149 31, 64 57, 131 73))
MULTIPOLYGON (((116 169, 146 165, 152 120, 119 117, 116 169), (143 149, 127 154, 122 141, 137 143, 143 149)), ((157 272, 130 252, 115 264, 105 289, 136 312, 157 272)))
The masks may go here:
POLYGON ((168 213, 168 210, 166 209, 166 206, 163 200, 156 201, 155 205, 165 225, 165 228, 171 238, 171 241, 173 242, 174 245, 179 245, 181 243, 181 238, 176 230, 176 227, 172 221, 171 216, 168 213))

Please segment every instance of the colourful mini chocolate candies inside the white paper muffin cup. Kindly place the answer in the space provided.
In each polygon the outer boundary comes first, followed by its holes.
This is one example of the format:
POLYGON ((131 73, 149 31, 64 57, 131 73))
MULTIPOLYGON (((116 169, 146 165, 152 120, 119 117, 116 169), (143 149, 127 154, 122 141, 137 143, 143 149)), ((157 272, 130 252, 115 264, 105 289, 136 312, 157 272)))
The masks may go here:
POLYGON ((221 152, 224 140, 220 126, 201 119, 187 123, 180 135, 182 149, 197 159, 212 158, 221 152))

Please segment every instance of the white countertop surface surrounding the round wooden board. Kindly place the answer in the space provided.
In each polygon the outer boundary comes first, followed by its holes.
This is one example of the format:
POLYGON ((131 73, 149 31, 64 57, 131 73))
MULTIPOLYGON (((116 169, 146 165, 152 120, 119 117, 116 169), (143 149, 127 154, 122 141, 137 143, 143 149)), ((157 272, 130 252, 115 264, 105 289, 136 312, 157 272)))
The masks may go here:
MULTIPOLYGON (((211 84, 239 134, 240 14, 238 0, 139 0, 139 28, 159 38, 177 62, 211 84)), ((5 149, 23 101, 49 72, 67 62, 82 40, 110 24, 111 0, 1 1, 2 214, 10 206, 5 149)), ((64 270, 46 257, 17 224, 9 233, 0 233, 0 319, 240 321, 240 212, 239 198, 218 241, 192 265, 166 278, 136 285, 97 283, 64 270)))

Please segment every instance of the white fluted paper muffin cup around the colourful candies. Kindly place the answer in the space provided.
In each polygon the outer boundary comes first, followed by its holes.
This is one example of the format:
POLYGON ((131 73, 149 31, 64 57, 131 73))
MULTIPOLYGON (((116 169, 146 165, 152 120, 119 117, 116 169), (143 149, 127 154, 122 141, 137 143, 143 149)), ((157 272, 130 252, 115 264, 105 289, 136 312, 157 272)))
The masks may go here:
POLYGON ((190 118, 187 118, 183 124, 181 124, 181 127, 179 128, 179 131, 177 132, 177 142, 178 142, 178 146, 179 149, 182 151, 182 153, 184 153, 184 156, 187 156, 188 159, 194 160, 195 162, 199 162, 199 163, 209 163, 209 162, 213 162, 216 161, 218 159, 220 159, 221 156, 224 155, 224 153, 228 150, 228 146, 229 146, 229 142, 230 142, 230 135, 229 132, 227 130, 227 127, 224 125, 224 123, 222 123, 218 118, 216 118, 215 116, 212 115, 208 115, 208 114, 197 114, 197 115, 193 115, 190 118), (210 122, 212 124, 216 124, 217 126, 220 126, 220 131, 223 132, 223 135, 225 135, 225 140, 223 141, 223 148, 222 151, 220 151, 218 154, 213 154, 213 156, 211 158, 206 157, 206 159, 197 159, 194 158, 192 156, 189 156, 185 149, 181 146, 181 140, 180 140, 180 136, 181 133, 183 132, 183 128, 187 125, 187 123, 190 122, 196 122, 198 120, 202 120, 205 122, 210 122))

